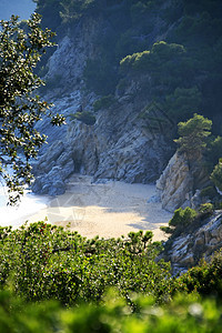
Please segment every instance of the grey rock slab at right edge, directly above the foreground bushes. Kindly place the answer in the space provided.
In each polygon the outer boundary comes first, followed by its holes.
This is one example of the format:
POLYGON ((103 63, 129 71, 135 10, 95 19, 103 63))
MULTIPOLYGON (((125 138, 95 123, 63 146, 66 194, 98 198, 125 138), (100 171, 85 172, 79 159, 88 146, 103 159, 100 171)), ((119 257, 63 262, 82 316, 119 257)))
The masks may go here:
POLYGON ((222 211, 215 211, 195 229, 184 231, 167 244, 164 259, 171 261, 174 274, 198 264, 202 258, 210 259, 222 246, 222 211))

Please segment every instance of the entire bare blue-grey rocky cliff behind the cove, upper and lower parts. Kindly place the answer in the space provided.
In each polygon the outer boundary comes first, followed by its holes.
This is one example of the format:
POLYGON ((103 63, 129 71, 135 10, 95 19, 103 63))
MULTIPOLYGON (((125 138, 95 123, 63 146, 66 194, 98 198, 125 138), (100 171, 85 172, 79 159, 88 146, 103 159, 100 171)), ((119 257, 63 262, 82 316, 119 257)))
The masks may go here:
POLYGON ((159 127, 151 131, 149 121, 141 117, 145 112, 151 112, 151 115, 158 112, 153 108, 147 110, 150 97, 141 93, 140 89, 144 81, 149 87, 145 75, 137 82, 130 78, 124 93, 119 95, 117 90, 109 108, 101 108, 97 113, 93 111, 92 104, 99 97, 85 91, 81 78, 87 59, 97 54, 93 39, 102 27, 104 21, 100 19, 77 26, 59 41, 48 61, 46 79, 49 87, 43 91, 44 98, 53 102, 54 112, 67 115, 67 125, 54 129, 42 122, 38 128, 49 135, 49 145, 33 162, 36 182, 32 189, 36 193, 63 193, 73 172, 93 175, 94 180, 153 182, 172 154, 167 135, 172 129, 169 119, 165 118, 164 129, 159 127), (70 120, 70 114, 84 110, 95 117, 94 124, 70 120))

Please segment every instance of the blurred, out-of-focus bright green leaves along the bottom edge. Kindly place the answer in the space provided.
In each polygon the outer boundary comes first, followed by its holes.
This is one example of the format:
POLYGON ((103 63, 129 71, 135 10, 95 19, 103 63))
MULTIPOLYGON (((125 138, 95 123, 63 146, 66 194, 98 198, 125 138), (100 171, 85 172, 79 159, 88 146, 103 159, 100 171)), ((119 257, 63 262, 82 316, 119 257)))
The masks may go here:
POLYGON ((213 299, 202 301, 196 294, 176 295, 164 306, 140 294, 133 295, 132 312, 115 291, 108 291, 104 303, 82 304, 69 310, 57 302, 26 304, 9 292, 0 293, 0 330, 8 333, 219 333, 221 305, 213 299))

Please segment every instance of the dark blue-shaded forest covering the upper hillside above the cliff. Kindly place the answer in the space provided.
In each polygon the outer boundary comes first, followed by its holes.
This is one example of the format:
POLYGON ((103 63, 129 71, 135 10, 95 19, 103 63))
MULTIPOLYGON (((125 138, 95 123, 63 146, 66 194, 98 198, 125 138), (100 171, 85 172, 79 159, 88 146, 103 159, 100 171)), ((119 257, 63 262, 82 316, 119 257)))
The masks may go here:
POLYGON ((43 24, 60 39, 82 21, 103 20, 84 81, 99 95, 122 94, 131 80, 175 123, 201 112, 221 131, 220 0, 41 1, 43 24), (143 80, 142 78, 147 78, 143 80))

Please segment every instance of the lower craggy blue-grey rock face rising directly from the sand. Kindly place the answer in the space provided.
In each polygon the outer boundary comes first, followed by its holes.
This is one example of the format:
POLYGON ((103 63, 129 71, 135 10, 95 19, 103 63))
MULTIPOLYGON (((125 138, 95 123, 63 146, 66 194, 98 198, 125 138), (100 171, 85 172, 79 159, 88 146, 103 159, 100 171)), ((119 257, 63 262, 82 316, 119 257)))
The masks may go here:
POLYGON ((33 164, 37 178, 33 192, 61 194, 73 172, 93 175, 95 181, 155 181, 171 149, 162 133, 150 133, 143 127, 138 119, 140 107, 118 102, 109 110, 98 112, 94 125, 78 121, 68 124, 63 138, 60 135, 54 140, 33 164))

